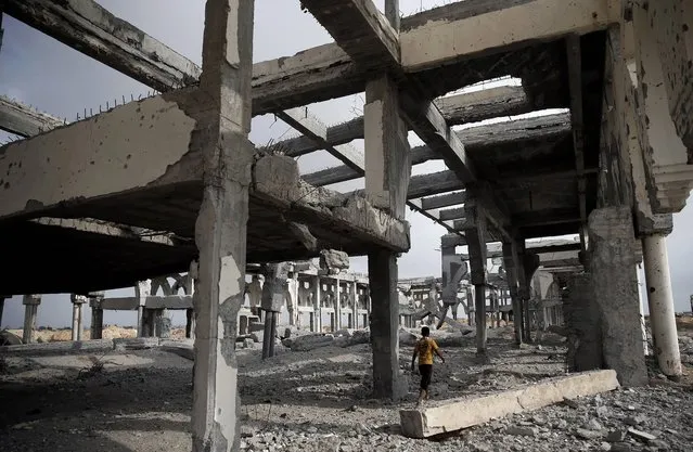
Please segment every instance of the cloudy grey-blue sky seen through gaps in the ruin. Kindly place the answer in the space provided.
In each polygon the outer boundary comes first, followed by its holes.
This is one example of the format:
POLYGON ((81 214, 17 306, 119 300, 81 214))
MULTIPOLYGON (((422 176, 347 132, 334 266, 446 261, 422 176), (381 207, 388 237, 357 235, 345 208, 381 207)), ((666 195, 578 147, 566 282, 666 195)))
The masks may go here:
MULTIPOLYGON (((400 0, 402 15, 450 3, 448 0, 400 0)), ((99 3, 149 35, 166 43, 182 55, 202 65, 202 34, 204 25, 204 0, 99 0, 99 3)), ((298 0, 256 0, 254 28, 254 61, 260 62, 280 56, 293 55, 304 49, 332 42, 330 35, 309 13, 304 13, 298 0)), ((384 0, 375 4, 382 10, 384 0)), ((4 17, 4 38, 0 49, 0 94, 14 98, 40 111, 64 117, 69 121, 85 111, 98 112, 106 102, 118 104, 130 95, 146 95, 150 88, 127 76, 98 63, 81 53, 47 37, 40 31, 4 17)), ((328 125, 338 124, 362 114, 363 94, 312 104, 309 109, 328 125)), ((251 140, 262 145, 271 140, 294 135, 293 129, 273 115, 253 119, 251 140)), ((0 142, 7 134, 0 134, 0 142)), ((412 145, 421 144, 410 133, 412 145)), ((363 145, 362 140, 352 143, 363 145)), ((301 172, 310 172, 339 164, 324 151, 303 156, 298 160, 301 172)), ((412 175, 440 171, 441 162, 418 165, 412 175)), ((363 188, 363 180, 335 184, 331 189, 348 191, 363 188)), ((400 277, 440 275, 440 236, 445 229, 425 217, 408 212, 411 223, 412 245, 409 253, 399 259, 400 277)), ((669 262, 673 297, 677 311, 690 310, 689 297, 693 294, 693 272, 689 267, 690 231, 693 231, 693 208, 684 208, 675 215, 675 230, 668 237, 669 262)), ((365 272, 363 257, 351 259, 355 271, 365 272)), ((111 290, 108 296, 132 296, 132 288, 111 290)), ((44 326, 67 326, 70 324, 72 308, 68 295, 46 295, 38 311, 38 323, 44 326)), ((131 325, 134 312, 104 313, 106 324, 131 325)), ((1 327, 21 326, 24 307, 21 297, 5 301, 1 327)), ((89 325, 89 308, 85 318, 89 325)), ((184 314, 174 315, 175 324, 184 323, 184 314)))

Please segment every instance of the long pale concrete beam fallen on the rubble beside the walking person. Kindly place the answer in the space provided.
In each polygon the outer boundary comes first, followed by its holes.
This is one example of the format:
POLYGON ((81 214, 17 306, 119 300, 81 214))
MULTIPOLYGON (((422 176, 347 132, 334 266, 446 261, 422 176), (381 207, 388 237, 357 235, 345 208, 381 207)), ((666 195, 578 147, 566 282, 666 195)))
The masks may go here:
POLYGON ((423 410, 400 410, 401 431, 410 438, 428 438, 460 430, 523 411, 532 411, 564 399, 594 396, 617 389, 616 372, 591 371, 550 378, 524 388, 489 396, 449 400, 423 410))

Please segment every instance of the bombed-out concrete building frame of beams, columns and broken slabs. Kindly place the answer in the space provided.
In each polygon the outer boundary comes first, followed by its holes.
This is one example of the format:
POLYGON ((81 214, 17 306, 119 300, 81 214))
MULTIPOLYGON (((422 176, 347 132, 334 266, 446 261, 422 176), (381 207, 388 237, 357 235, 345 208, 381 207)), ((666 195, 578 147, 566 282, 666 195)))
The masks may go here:
MULTIPOLYGON (((30 294, 79 294, 79 311, 100 302, 94 290, 190 271, 193 450, 236 450, 233 344, 251 263, 323 249, 367 255, 373 391, 401 396, 397 258, 416 240, 409 207, 448 232, 441 306, 455 304, 447 280, 469 261, 482 358, 487 294, 498 286, 489 255, 502 260, 516 340, 529 340, 529 282, 542 253, 527 241, 579 234, 580 271, 560 276, 566 328, 578 339, 572 367, 646 383, 642 259, 654 353, 676 378, 666 237, 693 186, 693 2, 446 3, 400 17, 397 0, 384 11, 372 0, 301 0, 334 42, 253 64, 254 1, 207 0, 198 67, 93 0, 3 1, 1 13, 161 94, 72 124, 0 101, 0 127, 24 137, 0 150, 0 248, 12 262, 0 293, 28 294, 31 321, 30 294), (521 86, 453 93, 505 76, 521 86), (346 124, 325 126, 303 107, 359 92, 363 116, 346 124), (452 128, 548 108, 564 111, 452 128), (248 140, 251 118, 266 113, 303 134, 282 141, 282 154, 248 140), (411 147, 410 130, 425 144, 411 147), (348 145, 357 139, 363 152, 348 145), (343 165, 300 175, 295 157, 318 150, 343 165), (448 169, 410 176, 433 159, 448 169), (361 177, 361 191, 324 188, 361 177), (450 251, 458 246, 469 260, 450 251)), ((272 266, 261 296, 270 318, 290 277, 272 266)), ((138 287, 138 299, 154 290, 138 287)), ((294 315, 301 308, 292 307, 294 315)), ((147 311, 141 328, 166 327, 163 312, 147 311)))

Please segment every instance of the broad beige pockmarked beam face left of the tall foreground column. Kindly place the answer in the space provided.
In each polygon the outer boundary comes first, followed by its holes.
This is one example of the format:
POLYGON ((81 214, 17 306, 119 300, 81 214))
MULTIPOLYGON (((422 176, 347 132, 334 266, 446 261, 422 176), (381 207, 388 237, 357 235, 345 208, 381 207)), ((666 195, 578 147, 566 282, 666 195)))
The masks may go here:
POLYGON ((3 146, 0 218, 200 179, 176 171, 196 126, 190 101, 189 93, 157 95, 3 146))

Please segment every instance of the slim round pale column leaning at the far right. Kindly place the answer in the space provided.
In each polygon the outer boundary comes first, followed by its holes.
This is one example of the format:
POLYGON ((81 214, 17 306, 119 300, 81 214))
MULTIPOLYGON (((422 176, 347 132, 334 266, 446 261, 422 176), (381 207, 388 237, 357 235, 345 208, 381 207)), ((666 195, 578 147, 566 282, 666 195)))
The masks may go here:
POLYGON ((681 376, 681 354, 676 327, 673 294, 669 274, 667 240, 664 234, 647 235, 642 240, 650 324, 654 354, 662 372, 671 378, 681 376))

